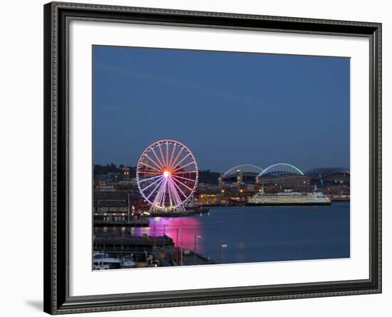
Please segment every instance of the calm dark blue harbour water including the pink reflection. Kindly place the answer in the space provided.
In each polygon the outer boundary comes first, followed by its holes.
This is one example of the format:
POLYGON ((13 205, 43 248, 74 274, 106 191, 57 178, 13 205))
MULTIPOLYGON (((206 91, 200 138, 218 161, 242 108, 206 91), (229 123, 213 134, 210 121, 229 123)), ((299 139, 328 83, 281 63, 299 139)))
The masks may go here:
POLYGON ((150 218, 149 228, 133 234, 162 236, 180 246, 195 248, 221 263, 348 258, 350 256, 350 203, 306 207, 214 207, 210 215, 150 218), (178 239, 177 239, 178 237, 178 239))

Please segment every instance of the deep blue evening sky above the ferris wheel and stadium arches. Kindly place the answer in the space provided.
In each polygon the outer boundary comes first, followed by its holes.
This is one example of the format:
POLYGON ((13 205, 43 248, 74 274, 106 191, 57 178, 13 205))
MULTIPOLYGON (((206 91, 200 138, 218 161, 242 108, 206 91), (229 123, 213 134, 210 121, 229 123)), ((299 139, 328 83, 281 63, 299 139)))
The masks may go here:
POLYGON ((200 169, 349 168, 349 58, 93 46, 95 163, 175 139, 200 169))

